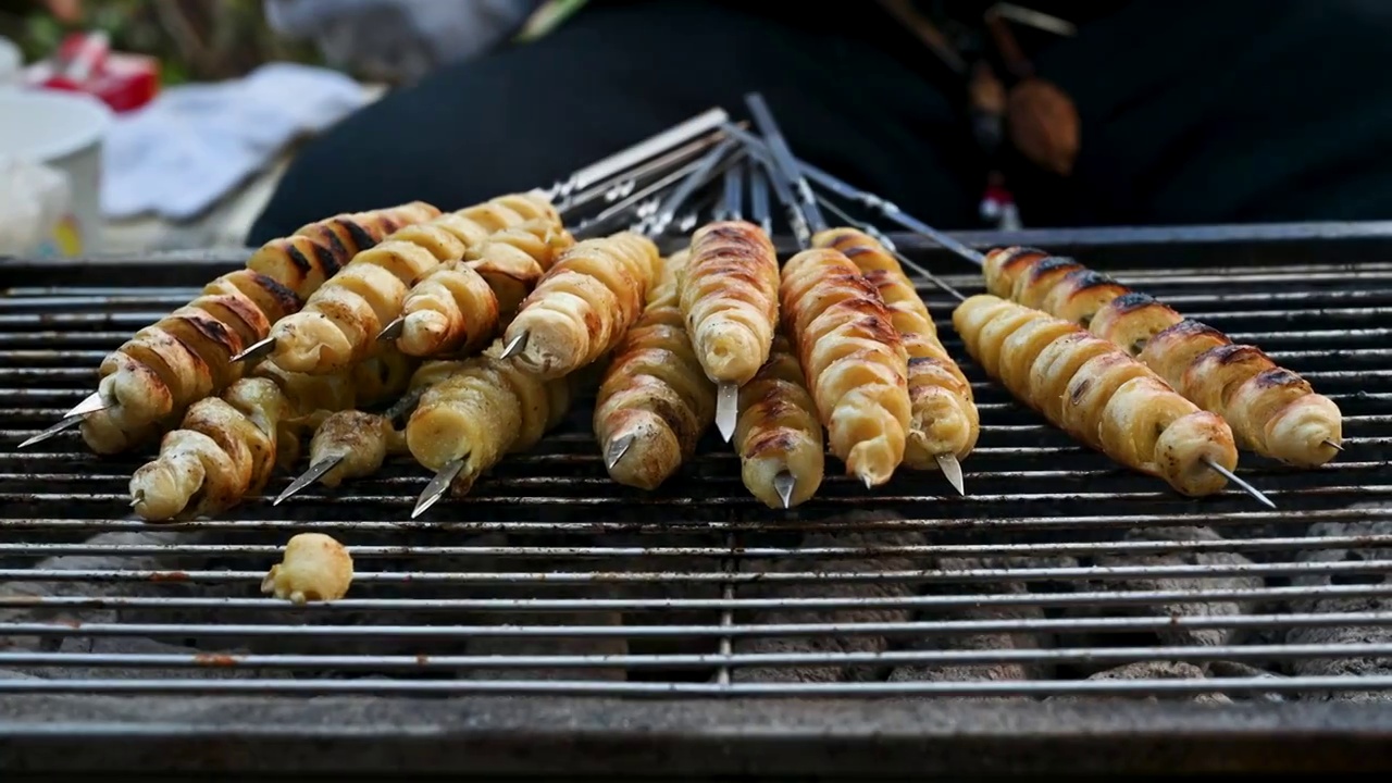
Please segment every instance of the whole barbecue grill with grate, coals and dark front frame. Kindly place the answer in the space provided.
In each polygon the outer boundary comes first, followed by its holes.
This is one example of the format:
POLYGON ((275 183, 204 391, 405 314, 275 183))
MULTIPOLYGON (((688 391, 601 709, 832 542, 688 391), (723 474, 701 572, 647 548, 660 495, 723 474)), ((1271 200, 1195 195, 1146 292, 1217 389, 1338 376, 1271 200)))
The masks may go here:
MULTIPOLYGON (((764 509, 714 437, 618 486, 589 410, 418 521, 409 460, 210 521, 127 515, 143 454, 75 432, 135 329, 241 263, 0 261, 0 759, 287 772, 878 775, 1367 769, 1392 761, 1392 223, 959 234, 1073 254, 1345 411, 1315 471, 1243 454, 1204 500, 973 380, 967 496, 901 471, 764 509), (345 542, 344 600, 258 587, 295 532, 345 542), (316 697, 316 698, 312 698, 316 697)), ((912 235, 965 293, 980 277, 912 235)), ((792 249, 792 242, 781 242, 792 249)), ((834 468, 834 464, 837 465, 834 468)), ((273 482, 274 496, 285 478, 273 482)))

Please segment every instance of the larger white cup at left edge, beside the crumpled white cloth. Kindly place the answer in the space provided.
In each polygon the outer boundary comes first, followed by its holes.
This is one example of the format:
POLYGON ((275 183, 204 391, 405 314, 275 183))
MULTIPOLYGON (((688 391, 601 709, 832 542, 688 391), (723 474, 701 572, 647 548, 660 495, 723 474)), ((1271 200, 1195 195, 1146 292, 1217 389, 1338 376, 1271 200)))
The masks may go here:
POLYGON ((0 157, 43 163, 68 178, 68 213, 49 237, 60 255, 100 252, 102 139, 111 117, 88 95, 0 89, 0 157))

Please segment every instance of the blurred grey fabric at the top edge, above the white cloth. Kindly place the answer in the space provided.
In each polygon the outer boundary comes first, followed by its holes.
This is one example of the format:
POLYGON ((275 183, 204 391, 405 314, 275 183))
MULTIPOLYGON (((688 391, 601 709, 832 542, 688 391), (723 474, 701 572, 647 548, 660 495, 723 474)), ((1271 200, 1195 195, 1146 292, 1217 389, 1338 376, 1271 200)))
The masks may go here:
POLYGON ((415 81, 477 57, 522 28, 541 0, 264 0, 276 32, 310 39, 330 65, 415 81))

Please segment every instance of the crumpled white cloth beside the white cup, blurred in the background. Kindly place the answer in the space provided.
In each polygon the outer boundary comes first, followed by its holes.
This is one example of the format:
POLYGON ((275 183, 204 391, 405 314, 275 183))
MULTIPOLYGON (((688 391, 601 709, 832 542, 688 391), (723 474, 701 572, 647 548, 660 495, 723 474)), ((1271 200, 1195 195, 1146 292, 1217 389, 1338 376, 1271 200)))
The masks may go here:
POLYGON ((271 63, 245 78, 164 91, 117 117, 102 150, 102 212, 195 217, 271 163, 367 100, 354 79, 326 68, 271 63))

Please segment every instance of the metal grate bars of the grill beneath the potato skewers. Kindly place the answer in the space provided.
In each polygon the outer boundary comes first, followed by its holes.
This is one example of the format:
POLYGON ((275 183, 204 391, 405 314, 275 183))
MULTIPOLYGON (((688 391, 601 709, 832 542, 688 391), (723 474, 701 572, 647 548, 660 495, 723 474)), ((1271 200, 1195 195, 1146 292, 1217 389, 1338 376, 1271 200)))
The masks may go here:
POLYGON ((582 408, 418 522, 426 476, 398 460, 152 527, 121 517, 143 460, 95 458, 75 433, 14 446, 221 269, 0 266, 0 692, 1392 698, 1392 263, 1229 237, 1208 252, 1258 261, 1224 268, 1143 244, 1080 255, 1343 408, 1347 450, 1322 470, 1243 456, 1281 511, 1235 490, 1183 500, 1075 446, 986 382, 952 301, 924 287, 981 407, 967 497, 909 471, 866 493, 828 461, 817 500, 773 514, 714 440, 644 495, 607 479, 582 408), (1147 269, 1146 248, 1186 266, 1147 269), (349 598, 259 598, 306 529, 351 546, 349 598))

